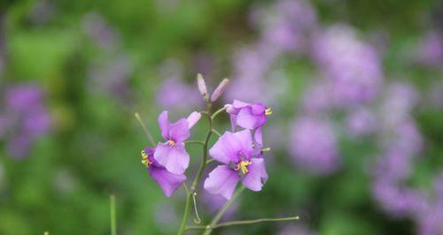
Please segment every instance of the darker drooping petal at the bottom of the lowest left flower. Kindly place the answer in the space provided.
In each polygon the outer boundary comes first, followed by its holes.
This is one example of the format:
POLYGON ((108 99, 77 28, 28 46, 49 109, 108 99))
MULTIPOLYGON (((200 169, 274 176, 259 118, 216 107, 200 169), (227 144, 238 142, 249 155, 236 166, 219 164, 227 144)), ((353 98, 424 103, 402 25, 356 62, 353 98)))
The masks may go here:
POLYGON ((186 181, 184 174, 173 174, 164 168, 150 167, 148 171, 167 197, 171 197, 175 190, 186 181))

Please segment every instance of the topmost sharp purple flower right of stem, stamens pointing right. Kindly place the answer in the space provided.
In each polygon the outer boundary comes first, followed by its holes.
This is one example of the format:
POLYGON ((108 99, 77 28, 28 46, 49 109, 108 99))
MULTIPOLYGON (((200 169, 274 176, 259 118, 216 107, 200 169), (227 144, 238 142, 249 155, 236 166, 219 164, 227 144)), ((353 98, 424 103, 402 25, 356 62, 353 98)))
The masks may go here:
POLYGON ((261 126, 268 119, 268 115, 272 114, 272 110, 267 108, 260 102, 247 103, 234 100, 232 104, 227 105, 226 111, 229 113, 232 130, 235 125, 243 127, 254 132, 254 140, 262 145, 261 126))

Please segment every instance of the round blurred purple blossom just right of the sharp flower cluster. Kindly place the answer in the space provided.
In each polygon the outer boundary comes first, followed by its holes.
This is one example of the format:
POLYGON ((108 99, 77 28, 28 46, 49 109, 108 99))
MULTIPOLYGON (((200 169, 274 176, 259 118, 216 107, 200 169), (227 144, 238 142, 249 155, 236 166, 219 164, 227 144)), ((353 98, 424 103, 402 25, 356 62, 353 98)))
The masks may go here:
POLYGON ((314 117, 299 118, 291 129, 289 150, 300 167, 315 173, 330 173, 338 167, 336 136, 328 122, 314 117))

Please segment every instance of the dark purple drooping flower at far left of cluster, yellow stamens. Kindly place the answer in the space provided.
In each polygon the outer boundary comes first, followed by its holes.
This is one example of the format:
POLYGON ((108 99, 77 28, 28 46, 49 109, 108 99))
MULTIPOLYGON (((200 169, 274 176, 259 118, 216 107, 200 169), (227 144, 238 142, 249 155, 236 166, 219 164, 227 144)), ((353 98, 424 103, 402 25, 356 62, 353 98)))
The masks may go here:
POLYGON ((142 151, 142 163, 146 166, 149 175, 159 184, 163 193, 165 193, 167 197, 171 197, 175 190, 186 181, 186 176, 184 174, 174 174, 167 171, 165 167, 154 159, 154 152, 155 148, 144 148, 142 151))

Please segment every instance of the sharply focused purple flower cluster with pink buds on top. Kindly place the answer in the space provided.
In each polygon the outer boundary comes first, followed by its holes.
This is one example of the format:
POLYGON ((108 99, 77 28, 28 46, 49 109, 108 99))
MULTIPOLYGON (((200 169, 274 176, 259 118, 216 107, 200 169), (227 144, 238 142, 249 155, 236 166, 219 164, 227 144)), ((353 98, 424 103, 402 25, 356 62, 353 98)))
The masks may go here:
MULTIPOLYGON (((208 94, 205 80, 200 74, 197 81, 198 90, 206 101, 208 110, 194 111, 189 117, 181 118, 175 123, 169 122, 166 110, 161 112, 158 121, 164 141, 157 143, 155 148, 144 148, 142 163, 163 193, 170 197, 186 181, 184 173, 190 165, 190 155, 186 151, 185 144, 190 138, 190 128, 197 124, 202 114, 208 116, 212 123, 217 114, 226 111, 232 126, 230 132, 221 134, 209 150, 207 150, 208 138, 206 141, 194 140, 204 145, 207 154, 220 163, 209 173, 204 188, 207 192, 220 194, 227 200, 232 197, 239 181, 250 190, 260 191, 268 179, 263 159, 261 130, 272 110, 260 102, 247 103, 234 100, 211 116, 209 110, 212 102, 221 96, 229 80, 222 80, 212 95, 208 94)), ((218 132, 211 127, 209 134, 212 133, 218 132)), ((204 164, 206 165, 206 160, 204 164)))

